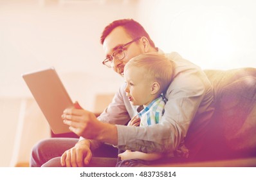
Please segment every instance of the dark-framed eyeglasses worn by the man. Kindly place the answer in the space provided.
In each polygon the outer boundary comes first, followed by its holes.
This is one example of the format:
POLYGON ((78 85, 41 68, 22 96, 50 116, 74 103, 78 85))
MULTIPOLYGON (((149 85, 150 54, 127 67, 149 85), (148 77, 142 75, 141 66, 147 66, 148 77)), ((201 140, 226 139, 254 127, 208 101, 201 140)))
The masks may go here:
POLYGON ((111 68, 112 64, 113 64, 113 58, 115 58, 116 60, 122 60, 125 57, 125 52, 124 52, 124 47, 135 42, 136 40, 139 40, 140 37, 136 37, 135 39, 131 40, 130 42, 127 42, 126 44, 123 44, 122 46, 119 46, 111 56, 107 57, 104 59, 104 61, 102 62, 102 64, 104 64, 105 66, 111 68))

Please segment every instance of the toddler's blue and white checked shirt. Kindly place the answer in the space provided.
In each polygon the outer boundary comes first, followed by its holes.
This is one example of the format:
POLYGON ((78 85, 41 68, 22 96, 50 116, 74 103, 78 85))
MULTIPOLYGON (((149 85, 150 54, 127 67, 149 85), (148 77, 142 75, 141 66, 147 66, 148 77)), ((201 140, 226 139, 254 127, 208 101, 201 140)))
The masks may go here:
POLYGON ((163 116, 164 107, 165 101, 161 96, 153 100, 147 107, 138 113, 138 116, 140 117, 140 126, 145 127, 159 123, 161 116, 163 116))

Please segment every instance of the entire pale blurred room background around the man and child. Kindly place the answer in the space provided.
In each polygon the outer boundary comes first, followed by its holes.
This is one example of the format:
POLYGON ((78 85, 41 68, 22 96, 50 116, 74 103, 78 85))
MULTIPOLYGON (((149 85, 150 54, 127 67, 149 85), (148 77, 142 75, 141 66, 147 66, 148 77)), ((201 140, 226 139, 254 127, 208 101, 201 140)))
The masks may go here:
POLYGON ((203 69, 256 67, 253 0, 0 0, 0 167, 50 137, 21 75, 54 66, 71 99, 99 113, 123 82, 102 65, 107 24, 133 18, 166 53, 203 69))

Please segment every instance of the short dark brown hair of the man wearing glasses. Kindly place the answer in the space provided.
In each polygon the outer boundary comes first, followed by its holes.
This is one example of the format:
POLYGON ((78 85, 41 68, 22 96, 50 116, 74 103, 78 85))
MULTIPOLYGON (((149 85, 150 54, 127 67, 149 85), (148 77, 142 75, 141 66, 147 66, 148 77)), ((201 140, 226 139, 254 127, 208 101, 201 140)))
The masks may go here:
POLYGON ((109 35, 109 33, 111 33, 114 28, 117 28, 119 26, 122 26, 132 39, 135 39, 136 37, 147 37, 147 39, 149 40, 149 44, 153 48, 156 48, 147 31, 145 31, 140 23, 134 21, 133 19, 119 19, 107 25, 102 31, 102 36, 100 37, 101 44, 104 43, 104 40, 109 35))

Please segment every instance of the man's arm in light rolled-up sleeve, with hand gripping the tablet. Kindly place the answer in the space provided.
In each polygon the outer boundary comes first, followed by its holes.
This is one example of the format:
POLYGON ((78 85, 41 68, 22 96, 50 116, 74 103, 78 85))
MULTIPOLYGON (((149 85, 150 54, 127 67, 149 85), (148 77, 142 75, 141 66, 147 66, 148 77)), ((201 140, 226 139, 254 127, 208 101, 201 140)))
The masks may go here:
POLYGON ((98 121, 93 113, 81 109, 68 109, 66 124, 78 136, 111 143, 119 149, 174 152, 184 141, 204 96, 205 84, 198 73, 183 73, 176 77, 167 91, 169 100, 159 124, 149 127, 111 125, 98 121))

